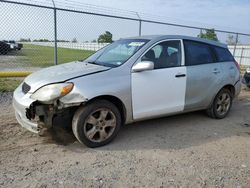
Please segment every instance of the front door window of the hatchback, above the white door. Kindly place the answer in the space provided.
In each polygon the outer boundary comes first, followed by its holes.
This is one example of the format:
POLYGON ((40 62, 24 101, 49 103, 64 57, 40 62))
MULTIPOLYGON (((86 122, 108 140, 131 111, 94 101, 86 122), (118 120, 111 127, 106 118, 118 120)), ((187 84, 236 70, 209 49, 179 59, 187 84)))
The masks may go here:
POLYGON ((181 66, 181 43, 179 40, 159 43, 151 48, 141 60, 154 62, 155 69, 181 66))

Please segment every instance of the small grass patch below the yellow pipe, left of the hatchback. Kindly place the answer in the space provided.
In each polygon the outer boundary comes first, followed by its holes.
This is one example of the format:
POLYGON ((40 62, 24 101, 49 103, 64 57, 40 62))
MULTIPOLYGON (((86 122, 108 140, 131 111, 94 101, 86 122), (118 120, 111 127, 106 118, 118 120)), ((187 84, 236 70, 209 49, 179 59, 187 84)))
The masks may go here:
POLYGON ((20 79, 8 79, 1 78, 0 79, 0 92, 11 92, 14 91, 22 80, 20 79))

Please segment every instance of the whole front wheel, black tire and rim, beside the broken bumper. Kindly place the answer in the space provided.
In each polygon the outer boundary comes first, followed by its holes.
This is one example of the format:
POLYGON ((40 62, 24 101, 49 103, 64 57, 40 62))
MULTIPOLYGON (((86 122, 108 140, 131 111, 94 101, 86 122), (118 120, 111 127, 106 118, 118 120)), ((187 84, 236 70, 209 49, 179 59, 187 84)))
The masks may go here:
POLYGON ((74 114, 72 130, 80 143, 95 148, 110 143, 121 128, 118 108, 107 100, 96 100, 74 114))

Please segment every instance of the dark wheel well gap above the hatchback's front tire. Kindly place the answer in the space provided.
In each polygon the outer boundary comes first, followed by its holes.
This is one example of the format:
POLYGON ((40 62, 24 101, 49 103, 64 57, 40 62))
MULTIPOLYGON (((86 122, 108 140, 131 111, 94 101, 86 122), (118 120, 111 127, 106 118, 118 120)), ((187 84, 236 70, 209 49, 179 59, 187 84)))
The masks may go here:
POLYGON ((125 123, 127 112, 126 112, 126 108, 123 102, 119 98, 115 96, 111 96, 111 95, 102 95, 102 96, 98 96, 98 97, 90 99, 88 103, 94 100, 98 100, 98 99, 104 99, 113 103, 118 108, 119 112, 121 113, 122 123, 125 123))

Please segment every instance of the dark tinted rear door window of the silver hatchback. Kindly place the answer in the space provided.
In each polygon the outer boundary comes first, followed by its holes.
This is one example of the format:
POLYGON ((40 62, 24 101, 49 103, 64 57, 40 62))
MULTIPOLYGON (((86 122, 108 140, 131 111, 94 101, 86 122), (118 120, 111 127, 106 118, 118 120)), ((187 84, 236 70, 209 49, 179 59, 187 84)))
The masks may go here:
POLYGON ((201 65, 214 62, 214 58, 209 45, 194 41, 184 41, 184 47, 186 66, 201 65))

